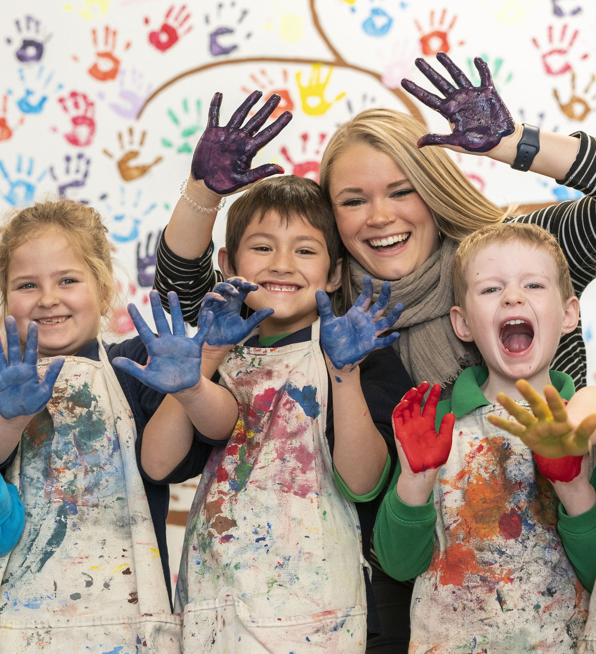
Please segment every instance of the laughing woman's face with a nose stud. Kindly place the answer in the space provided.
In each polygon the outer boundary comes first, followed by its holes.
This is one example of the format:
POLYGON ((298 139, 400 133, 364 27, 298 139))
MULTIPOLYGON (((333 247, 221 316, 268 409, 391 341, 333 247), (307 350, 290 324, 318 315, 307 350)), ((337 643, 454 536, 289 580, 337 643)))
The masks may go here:
POLYGON ((388 154, 348 148, 335 160, 329 194, 344 245, 373 277, 406 277, 439 249, 430 209, 388 154))

